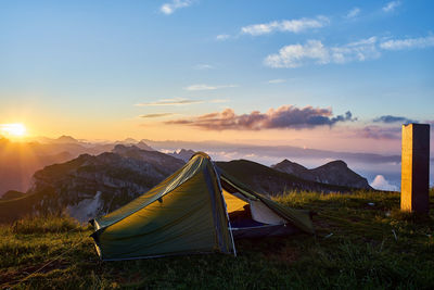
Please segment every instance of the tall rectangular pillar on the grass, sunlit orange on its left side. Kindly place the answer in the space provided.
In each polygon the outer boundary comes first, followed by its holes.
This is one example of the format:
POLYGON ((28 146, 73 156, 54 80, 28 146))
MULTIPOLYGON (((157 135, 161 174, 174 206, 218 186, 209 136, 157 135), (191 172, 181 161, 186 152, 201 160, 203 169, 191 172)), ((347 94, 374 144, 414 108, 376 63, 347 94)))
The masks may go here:
POLYGON ((403 125, 400 209, 430 211, 430 125, 403 125))

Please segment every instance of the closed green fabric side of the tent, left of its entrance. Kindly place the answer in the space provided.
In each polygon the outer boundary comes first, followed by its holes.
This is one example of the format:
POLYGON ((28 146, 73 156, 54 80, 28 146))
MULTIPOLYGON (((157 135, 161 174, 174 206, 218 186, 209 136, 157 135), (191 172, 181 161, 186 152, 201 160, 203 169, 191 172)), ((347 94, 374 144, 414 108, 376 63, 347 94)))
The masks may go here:
POLYGON ((93 219, 91 237, 101 259, 231 253, 234 245, 212 166, 197 155, 154 189, 93 219))

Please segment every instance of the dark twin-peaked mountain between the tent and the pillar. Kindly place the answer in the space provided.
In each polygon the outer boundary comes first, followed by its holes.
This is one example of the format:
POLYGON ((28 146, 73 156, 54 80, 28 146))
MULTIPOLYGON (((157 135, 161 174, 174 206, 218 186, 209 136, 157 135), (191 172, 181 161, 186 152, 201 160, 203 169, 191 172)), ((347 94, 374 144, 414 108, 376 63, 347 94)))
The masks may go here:
POLYGON ((349 169, 348 165, 341 160, 329 162, 314 169, 308 169, 303 165, 285 159, 276 165, 271 165, 271 168, 292 174, 305 180, 372 190, 372 187, 365 177, 349 169))

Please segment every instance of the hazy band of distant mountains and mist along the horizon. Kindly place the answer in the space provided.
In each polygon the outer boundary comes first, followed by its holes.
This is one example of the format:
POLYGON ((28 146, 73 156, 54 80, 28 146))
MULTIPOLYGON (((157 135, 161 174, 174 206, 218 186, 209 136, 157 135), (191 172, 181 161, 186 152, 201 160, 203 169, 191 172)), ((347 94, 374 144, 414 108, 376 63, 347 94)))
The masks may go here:
MULTIPOLYGON (((170 155, 188 161, 194 151, 209 152, 214 160, 246 159, 271 164, 281 156, 297 160, 308 159, 316 163, 320 160, 345 160, 365 164, 399 163, 400 155, 381 155, 372 153, 334 152, 317 149, 303 149, 292 146, 257 146, 253 143, 226 143, 222 141, 154 141, 126 138, 118 141, 99 140, 95 142, 76 139, 72 136, 59 138, 33 137, 13 142, 0 137, 0 197, 8 190, 26 191, 31 185, 33 174, 47 165, 62 163, 80 154, 98 155, 110 152, 116 144, 136 146, 148 151, 174 152, 170 155), (8 146, 5 146, 8 144, 8 146), (179 148, 183 148, 179 151, 179 148), (7 150, 8 149, 8 150, 7 150)), ((434 164, 434 159, 431 159, 434 164)), ((354 163, 353 163, 354 164, 354 163)), ((378 174, 378 173, 375 173, 378 174)), ((370 177, 371 178, 371 177, 370 177)))

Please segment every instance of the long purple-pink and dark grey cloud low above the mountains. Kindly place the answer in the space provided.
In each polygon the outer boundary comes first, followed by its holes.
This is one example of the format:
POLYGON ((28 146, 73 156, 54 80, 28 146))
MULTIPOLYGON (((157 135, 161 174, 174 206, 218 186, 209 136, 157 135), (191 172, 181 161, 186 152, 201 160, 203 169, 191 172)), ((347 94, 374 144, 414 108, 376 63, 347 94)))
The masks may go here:
POLYGON ((237 115, 232 109, 214 112, 192 118, 165 122, 167 125, 188 125, 207 130, 261 130, 261 129, 303 129, 318 126, 333 126, 339 122, 355 121, 348 111, 345 115, 333 116, 331 109, 282 105, 266 113, 254 111, 237 115))

